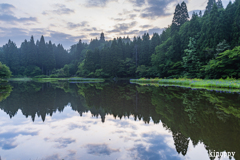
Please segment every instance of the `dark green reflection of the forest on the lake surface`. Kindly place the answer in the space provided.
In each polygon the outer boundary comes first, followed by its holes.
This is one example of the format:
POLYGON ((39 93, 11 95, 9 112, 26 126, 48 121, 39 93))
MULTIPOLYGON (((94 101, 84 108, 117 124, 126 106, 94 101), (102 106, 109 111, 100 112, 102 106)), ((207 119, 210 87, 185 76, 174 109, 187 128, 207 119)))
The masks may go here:
POLYGON ((128 83, 13 83, 1 87, 0 108, 10 118, 18 110, 26 117, 52 116, 68 104, 80 116, 129 117, 146 124, 162 122, 172 132, 176 151, 187 154, 193 146, 204 143, 216 152, 236 152, 240 159, 240 97, 237 93, 219 93, 178 87, 137 86, 128 83), (13 91, 12 91, 12 86, 13 91), (11 92, 12 91, 12 92, 11 92), (11 93, 11 94, 10 94, 11 93))

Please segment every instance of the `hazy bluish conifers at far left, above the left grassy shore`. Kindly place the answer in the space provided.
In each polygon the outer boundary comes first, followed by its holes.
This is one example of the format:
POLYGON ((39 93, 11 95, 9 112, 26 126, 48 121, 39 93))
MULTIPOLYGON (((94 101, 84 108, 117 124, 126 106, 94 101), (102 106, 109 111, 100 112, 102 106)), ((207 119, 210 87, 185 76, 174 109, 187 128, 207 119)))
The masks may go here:
POLYGON ((40 41, 25 40, 20 48, 11 40, 2 47, 1 61, 9 66, 13 75, 49 75, 54 69, 62 68, 70 62, 70 56, 62 45, 45 42, 42 36, 40 41))

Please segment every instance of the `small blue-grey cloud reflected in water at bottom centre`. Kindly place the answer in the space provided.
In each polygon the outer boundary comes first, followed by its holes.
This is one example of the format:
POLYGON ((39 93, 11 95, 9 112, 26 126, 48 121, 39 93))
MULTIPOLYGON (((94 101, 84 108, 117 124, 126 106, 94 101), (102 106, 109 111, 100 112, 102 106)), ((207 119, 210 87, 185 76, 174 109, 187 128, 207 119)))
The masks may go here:
POLYGON ((109 156, 110 154, 114 152, 119 152, 119 149, 112 149, 109 148, 107 144, 88 144, 85 145, 85 148, 87 148, 87 153, 100 156, 100 155, 107 155, 109 156))

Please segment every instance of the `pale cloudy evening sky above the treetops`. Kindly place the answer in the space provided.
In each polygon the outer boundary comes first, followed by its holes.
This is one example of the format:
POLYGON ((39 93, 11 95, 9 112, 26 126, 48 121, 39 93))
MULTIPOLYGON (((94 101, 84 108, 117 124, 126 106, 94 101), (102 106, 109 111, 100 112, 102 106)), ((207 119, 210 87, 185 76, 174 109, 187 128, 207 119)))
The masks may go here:
MULTIPOLYGON (((204 10, 207 0, 185 0, 188 11, 204 10)), ((222 0, 224 7, 229 0, 222 0)), ((19 47, 33 36, 62 44, 89 43, 104 33, 117 37, 161 33, 171 25, 182 0, 0 0, 0 47, 12 40, 19 47)))

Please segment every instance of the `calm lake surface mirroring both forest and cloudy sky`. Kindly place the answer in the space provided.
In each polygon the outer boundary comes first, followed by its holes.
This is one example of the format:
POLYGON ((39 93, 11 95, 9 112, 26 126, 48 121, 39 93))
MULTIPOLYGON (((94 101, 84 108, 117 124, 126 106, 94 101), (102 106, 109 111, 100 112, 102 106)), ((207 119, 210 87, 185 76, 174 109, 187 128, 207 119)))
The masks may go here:
POLYGON ((240 159, 237 93, 127 82, 0 88, 1 160, 240 159))

